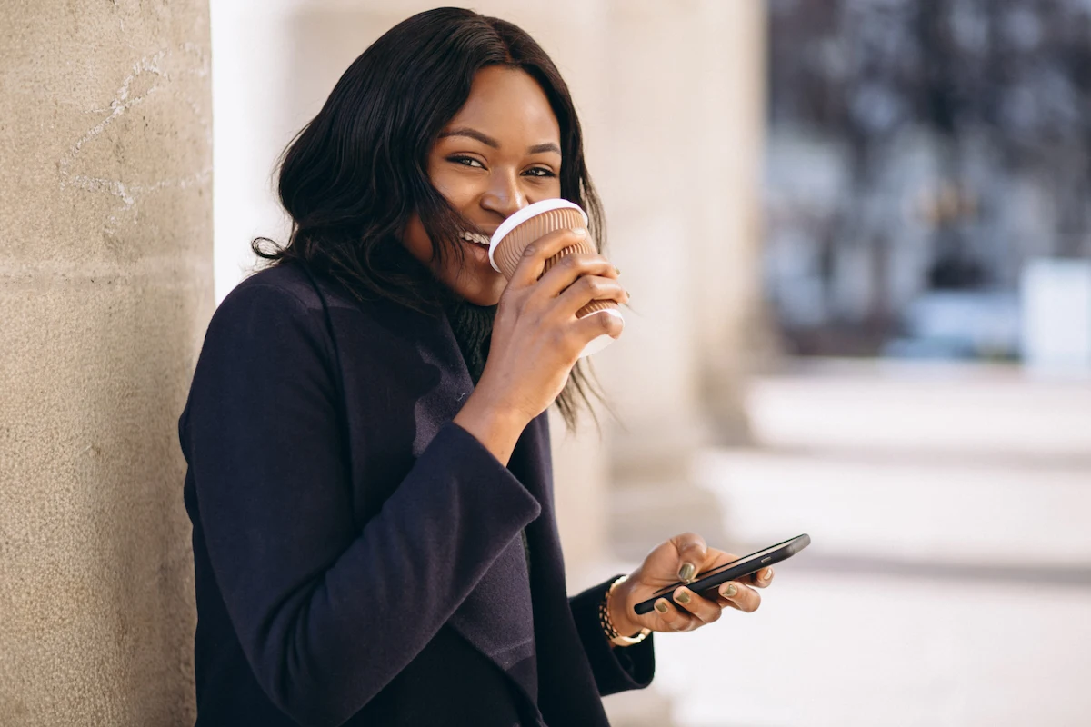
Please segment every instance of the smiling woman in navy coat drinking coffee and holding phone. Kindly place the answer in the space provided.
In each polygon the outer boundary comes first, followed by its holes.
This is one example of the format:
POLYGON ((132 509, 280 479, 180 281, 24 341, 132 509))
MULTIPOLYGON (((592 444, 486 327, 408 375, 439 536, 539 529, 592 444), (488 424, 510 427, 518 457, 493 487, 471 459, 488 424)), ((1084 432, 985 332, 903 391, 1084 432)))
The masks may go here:
POLYGON ((682 535, 573 598, 546 410, 570 425, 590 339, 628 300, 600 255, 507 282, 482 246, 516 209, 599 205, 553 63, 458 9, 375 41, 287 149, 287 246, 209 325, 180 421, 199 725, 606 725, 649 631, 751 611, 771 573, 682 609, 634 604, 731 559, 682 535), (540 278, 540 279, 539 279, 540 278), (571 375, 570 375, 571 374, 571 375))

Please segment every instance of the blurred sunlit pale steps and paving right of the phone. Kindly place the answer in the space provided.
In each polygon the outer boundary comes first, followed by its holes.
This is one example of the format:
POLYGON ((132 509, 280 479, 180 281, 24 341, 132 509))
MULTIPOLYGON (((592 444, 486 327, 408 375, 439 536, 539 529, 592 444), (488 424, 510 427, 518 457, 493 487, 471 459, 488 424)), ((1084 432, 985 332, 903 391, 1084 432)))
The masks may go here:
POLYGON ((751 409, 759 447, 697 476, 740 546, 814 545, 660 640, 674 724, 1091 725, 1091 381, 826 363, 751 409))

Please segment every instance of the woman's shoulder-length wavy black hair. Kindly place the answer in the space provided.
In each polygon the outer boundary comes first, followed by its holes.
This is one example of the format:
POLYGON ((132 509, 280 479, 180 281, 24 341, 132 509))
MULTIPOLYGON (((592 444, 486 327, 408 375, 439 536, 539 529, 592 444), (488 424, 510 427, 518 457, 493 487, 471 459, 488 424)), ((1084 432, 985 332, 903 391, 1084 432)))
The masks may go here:
MULTIPOLYGON (((413 214, 442 260, 467 229, 432 185, 428 157, 483 68, 521 69, 544 90, 561 129, 561 196, 583 207, 592 238, 604 244, 602 207, 584 161, 583 135, 568 87, 544 50, 516 25, 460 8, 403 21, 345 71, 319 114, 280 160, 279 194, 291 216, 284 246, 253 241, 272 265, 301 262, 362 300, 386 299, 436 313, 445 293, 406 254, 400 235, 413 214)), ((578 405, 602 393, 577 363, 556 404, 570 431, 578 405)), ((597 422, 597 419, 596 419, 597 422)))

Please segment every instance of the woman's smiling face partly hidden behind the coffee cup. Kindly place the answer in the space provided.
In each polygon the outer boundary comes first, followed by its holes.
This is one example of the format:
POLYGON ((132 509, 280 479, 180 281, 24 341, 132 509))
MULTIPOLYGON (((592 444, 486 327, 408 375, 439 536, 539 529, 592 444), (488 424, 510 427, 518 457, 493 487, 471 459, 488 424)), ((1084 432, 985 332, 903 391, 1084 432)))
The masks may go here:
POLYGON ((443 264, 416 215, 403 242, 461 298, 495 305, 507 281, 489 264, 489 238, 517 209, 561 196, 561 130, 541 86, 525 71, 482 69, 466 105, 428 159, 432 184, 476 229, 465 230, 465 262, 443 264))

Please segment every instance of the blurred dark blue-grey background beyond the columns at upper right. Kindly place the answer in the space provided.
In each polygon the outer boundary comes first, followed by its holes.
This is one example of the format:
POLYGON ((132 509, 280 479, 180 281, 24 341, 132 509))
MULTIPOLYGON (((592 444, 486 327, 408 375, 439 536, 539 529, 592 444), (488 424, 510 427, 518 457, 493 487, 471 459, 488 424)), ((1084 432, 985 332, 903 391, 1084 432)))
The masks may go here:
MULTIPOLYGON (((1091 7, 774 0, 769 24, 765 280, 789 349, 1018 358, 1028 267, 1091 257, 1091 7)), ((1043 315, 1091 331, 1065 308, 1043 315)))

